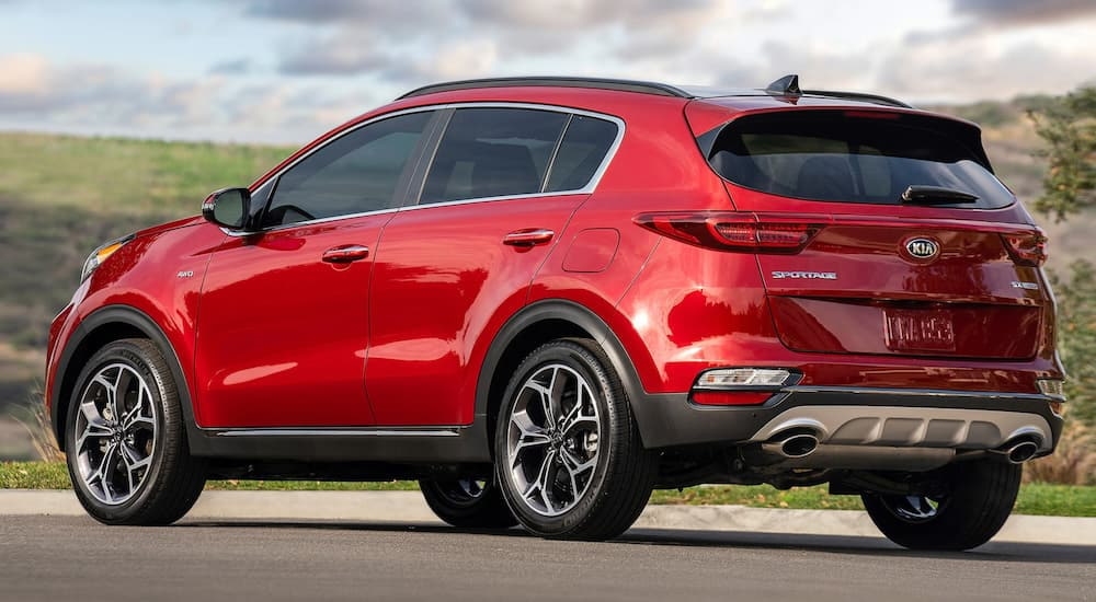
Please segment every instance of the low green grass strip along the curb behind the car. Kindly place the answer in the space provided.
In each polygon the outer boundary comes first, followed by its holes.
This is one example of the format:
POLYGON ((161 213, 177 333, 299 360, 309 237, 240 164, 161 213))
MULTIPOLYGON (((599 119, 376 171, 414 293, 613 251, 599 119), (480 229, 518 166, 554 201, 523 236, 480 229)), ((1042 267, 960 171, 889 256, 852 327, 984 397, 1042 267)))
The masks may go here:
MULTIPOLYGON (((0 489, 68 489, 71 487, 60 462, 0 463, 0 489)), ((329 483, 316 481, 210 481, 206 489, 221 490, 322 490, 322 491, 413 491, 411 481, 388 483, 329 483)), ((655 491, 651 503, 737 505, 753 508, 863 510, 856 496, 831 496, 825 486, 780 491, 767 485, 688 487, 682 491, 655 491)), ((1026 484, 1020 488, 1014 512, 1055 517, 1096 517, 1096 487, 1026 484)))

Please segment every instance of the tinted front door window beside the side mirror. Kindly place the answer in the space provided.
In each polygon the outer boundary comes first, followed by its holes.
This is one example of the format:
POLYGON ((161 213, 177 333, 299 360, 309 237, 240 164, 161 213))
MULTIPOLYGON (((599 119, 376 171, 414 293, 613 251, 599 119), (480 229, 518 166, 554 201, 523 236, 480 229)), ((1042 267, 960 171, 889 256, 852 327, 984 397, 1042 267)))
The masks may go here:
POLYGON ((363 126, 308 155, 278 178, 264 227, 388 209, 433 113, 363 126))

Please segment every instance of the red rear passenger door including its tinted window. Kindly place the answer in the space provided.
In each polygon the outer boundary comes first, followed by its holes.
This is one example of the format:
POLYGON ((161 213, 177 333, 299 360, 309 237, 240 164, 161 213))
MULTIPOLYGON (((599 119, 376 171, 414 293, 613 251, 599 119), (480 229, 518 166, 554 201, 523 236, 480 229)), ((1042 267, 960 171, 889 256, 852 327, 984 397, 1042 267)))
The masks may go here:
POLYGON ((479 359, 619 131, 559 109, 456 109, 419 205, 388 224, 376 259, 366 381, 378 425, 472 421, 479 359))

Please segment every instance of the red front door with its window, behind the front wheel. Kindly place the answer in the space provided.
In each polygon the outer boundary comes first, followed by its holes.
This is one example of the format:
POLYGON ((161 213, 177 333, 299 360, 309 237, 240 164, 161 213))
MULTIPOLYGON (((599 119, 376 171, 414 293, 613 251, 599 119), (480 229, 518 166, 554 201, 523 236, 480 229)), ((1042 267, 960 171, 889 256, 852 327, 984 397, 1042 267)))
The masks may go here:
POLYGON ((365 396, 373 259, 431 113, 353 129, 278 176, 263 231, 228 236, 203 286, 206 428, 375 422, 365 396))

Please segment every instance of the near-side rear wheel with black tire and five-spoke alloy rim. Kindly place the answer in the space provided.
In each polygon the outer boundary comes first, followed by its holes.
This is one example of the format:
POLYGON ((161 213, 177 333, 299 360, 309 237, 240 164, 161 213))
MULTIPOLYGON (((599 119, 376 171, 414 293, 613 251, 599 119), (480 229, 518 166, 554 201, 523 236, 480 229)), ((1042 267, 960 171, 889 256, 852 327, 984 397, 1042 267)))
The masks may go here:
POLYGON ((651 497, 658 455, 643 449, 628 396, 589 339, 529 354, 503 396, 498 483, 514 517, 549 539, 608 540, 651 497))

